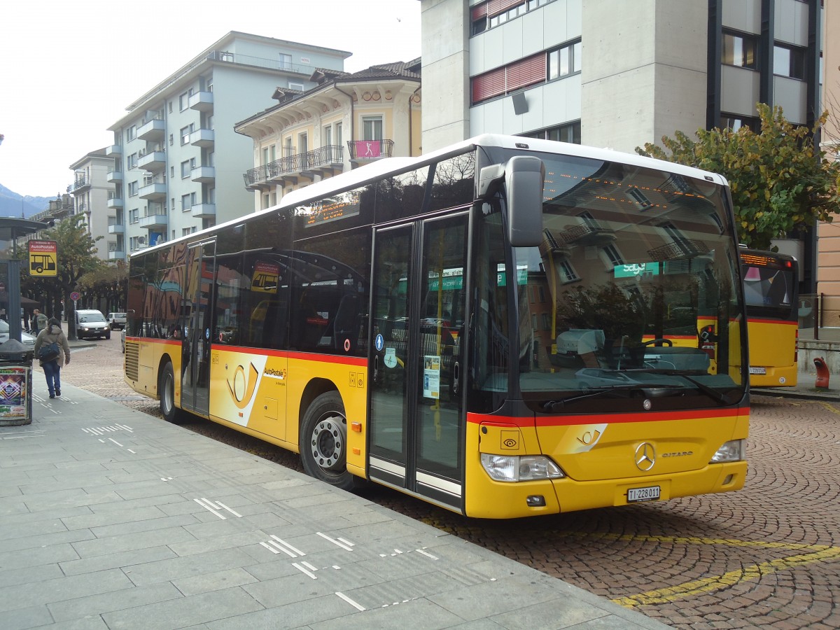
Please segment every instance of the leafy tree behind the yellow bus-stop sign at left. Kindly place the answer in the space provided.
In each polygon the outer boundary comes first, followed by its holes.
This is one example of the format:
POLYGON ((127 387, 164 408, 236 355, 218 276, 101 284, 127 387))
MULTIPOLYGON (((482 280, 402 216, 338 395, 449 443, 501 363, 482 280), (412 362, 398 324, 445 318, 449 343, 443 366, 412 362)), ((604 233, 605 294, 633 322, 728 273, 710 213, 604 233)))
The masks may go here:
MULTIPOLYGON (((87 227, 83 221, 84 215, 76 214, 57 223, 55 228, 46 229, 42 234, 45 240, 55 240, 58 249, 58 275, 55 278, 34 280, 29 276, 24 276, 22 280, 24 291, 34 292, 35 295, 46 298, 47 312, 50 315, 57 316, 61 300, 66 306, 71 304, 70 294, 79 288, 81 276, 104 265, 102 260, 97 258, 95 251, 96 241, 102 237, 93 239, 87 233, 87 227), (50 302, 52 302, 51 307, 50 302)), ((67 321, 72 322, 72 307, 66 315, 67 321)), ((75 339, 76 329, 71 326, 70 330, 71 339, 75 339)))

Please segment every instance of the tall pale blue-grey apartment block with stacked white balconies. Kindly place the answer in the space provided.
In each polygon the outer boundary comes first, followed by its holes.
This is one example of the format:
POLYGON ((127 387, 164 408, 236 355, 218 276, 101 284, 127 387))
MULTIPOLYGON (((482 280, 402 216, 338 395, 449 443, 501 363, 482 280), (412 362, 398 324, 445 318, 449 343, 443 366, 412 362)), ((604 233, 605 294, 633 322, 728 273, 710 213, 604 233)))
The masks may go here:
POLYGON ((251 212, 239 177, 253 143, 234 124, 270 107, 277 89, 315 86, 316 68, 342 71, 349 55, 231 31, 132 102, 108 128, 109 258, 251 212))

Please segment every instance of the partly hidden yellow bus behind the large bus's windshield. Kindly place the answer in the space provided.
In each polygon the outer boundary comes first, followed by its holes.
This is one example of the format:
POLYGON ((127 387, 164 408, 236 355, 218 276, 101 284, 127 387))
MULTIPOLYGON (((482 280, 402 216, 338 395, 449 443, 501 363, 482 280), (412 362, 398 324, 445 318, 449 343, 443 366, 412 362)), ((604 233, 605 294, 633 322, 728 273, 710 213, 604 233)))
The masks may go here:
POLYGON ((799 372, 799 266, 793 256, 741 249, 749 386, 794 387, 799 372))

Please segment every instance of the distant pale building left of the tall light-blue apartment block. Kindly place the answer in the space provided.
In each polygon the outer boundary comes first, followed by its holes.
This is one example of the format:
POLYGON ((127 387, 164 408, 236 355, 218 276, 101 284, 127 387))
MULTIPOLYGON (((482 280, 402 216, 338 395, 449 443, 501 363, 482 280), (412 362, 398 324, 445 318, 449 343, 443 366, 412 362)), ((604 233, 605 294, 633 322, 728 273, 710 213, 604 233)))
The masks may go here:
POLYGON ((113 158, 105 155, 105 149, 91 151, 70 165, 73 181, 67 186, 71 195, 71 209, 65 216, 81 214, 87 234, 96 240, 97 256, 108 260, 115 251, 117 241, 110 231, 108 218, 108 198, 113 191, 113 184, 108 181, 108 173, 113 169, 113 158))

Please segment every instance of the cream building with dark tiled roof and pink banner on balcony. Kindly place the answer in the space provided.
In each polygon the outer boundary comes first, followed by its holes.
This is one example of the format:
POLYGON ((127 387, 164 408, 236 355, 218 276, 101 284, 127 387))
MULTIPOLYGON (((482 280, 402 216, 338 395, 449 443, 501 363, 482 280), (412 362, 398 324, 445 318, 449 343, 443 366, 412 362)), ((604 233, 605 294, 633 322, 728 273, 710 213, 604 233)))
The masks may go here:
POLYGON ((419 59, 309 78, 315 87, 277 88, 274 107, 236 124, 253 140, 254 167, 243 176, 255 210, 372 160, 422 152, 419 59))

